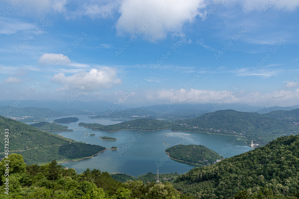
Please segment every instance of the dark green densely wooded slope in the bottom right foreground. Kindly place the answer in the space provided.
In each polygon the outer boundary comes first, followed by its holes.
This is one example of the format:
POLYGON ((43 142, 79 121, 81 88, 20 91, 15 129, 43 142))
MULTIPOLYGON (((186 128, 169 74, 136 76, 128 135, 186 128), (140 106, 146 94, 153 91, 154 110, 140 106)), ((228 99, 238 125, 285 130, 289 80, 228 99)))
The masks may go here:
POLYGON ((198 198, 228 198, 260 187, 274 194, 299 197, 299 135, 280 137, 266 146, 242 153, 208 167, 180 175, 174 187, 198 198))

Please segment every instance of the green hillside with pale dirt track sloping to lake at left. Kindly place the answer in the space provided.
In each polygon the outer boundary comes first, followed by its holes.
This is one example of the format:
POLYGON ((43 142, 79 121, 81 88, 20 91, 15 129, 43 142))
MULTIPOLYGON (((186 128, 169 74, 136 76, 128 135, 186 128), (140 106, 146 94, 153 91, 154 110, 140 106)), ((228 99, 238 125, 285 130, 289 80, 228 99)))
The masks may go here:
MULTIPOLYGON (((106 149, 98 145, 76 142, 60 135, 34 128, 30 125, 0 116, 0 143, 4 146, 4 129, 8 129, 10 153, 21 154, 27 164, 43 164, 53 158, 67 161, 90 157, 106 149)), ((4 147, 0 148, 4 157, 4 147)))

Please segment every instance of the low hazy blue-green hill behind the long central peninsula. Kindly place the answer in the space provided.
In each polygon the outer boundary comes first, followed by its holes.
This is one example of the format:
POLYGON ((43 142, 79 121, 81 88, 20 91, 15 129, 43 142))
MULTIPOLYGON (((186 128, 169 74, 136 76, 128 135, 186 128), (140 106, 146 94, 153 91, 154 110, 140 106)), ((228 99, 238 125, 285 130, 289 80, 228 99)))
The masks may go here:
POLYGON ((135 108, 135 109, 126 109, 124 111, 118 111, 118 112, 104 112, 101 115, 97 116, 91 116, 90 118, 103 118, 103 117, 109 117, 109 118, 147 118, 150 116, 157 116, 157 113, 148 111, 146 109, 142 108, 135 108))

